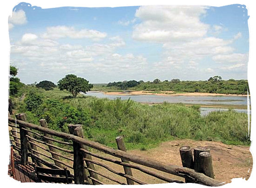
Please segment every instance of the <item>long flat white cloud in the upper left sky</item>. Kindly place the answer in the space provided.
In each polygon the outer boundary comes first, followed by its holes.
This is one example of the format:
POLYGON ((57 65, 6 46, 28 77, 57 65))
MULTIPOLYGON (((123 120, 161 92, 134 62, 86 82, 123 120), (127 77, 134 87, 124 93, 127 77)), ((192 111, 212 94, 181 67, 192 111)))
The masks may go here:
POLYGON ((42 34, 44 39, 60 39, 69 37, 71 39, 88 38, 92 40, 101 40, 107 37, 107 33, 100 32, 93 29, 76 30, 74 27, 55 26, 47 27, 47 32, 42 34))

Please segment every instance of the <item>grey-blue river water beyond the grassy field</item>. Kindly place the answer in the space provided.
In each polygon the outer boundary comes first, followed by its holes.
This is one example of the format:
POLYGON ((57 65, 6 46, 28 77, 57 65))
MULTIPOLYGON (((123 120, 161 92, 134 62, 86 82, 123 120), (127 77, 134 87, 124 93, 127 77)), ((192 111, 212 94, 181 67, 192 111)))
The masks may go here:
MULTIPOLYGON (((160 95, 110 95, 104 94, 103 92, 89 91, 87 94, 89 96, 95 96, 98 98, 108 98, 115 99, 117 97, 121 100, 128 100, 129 98, 133 101, 143 102, 143 103, 162 103, 164 101, 170 103, 187 103, 187 104, 204 104, 204 105, 246 105, 246 96, 160 96, 160 95)), ((201 114, 207 115, 212 111, 222 111, 228 110, 225 108, 209 108, 201 107, 201 114)), ((245 109, 234 109, 237 112, 248 113, 245 109)))

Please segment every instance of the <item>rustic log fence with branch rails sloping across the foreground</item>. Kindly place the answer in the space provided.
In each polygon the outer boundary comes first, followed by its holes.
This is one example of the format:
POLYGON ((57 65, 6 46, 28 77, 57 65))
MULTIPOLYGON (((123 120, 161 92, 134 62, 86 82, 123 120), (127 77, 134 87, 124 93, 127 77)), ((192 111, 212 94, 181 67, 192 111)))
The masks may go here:
POLYGON ((66 167, 75 184, 193 182, 207 186, 223 185, 212 178, 209 156, 206 157, 208 162, 203 162, 207 168, 202 168, 202 161, 193 161, 190 148, 180 149, 183 164, 180 167, 127 153, 122 137, 116 138, 118 149, 89 141, 83 138, 81 125, 70 124, 70 134, 67 134, 47 128, 44 119, 40 120, 40 126, 28 123, 26 114, 16 114, 15 119, 8 117, 8 121, 9 127, 12 127, 10 140, 14 150, 20 154, 22 164, 34 162, 41 167, 66 167), (194 164, 198 166, 197 171, 193 169, 194 164), (138 177, 144 178, 141 180, 138 177))

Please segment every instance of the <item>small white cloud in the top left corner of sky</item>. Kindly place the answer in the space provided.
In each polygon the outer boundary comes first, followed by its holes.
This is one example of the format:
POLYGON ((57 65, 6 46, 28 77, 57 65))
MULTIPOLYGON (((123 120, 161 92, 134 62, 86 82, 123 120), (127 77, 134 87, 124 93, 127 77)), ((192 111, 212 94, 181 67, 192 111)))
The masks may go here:
POLYGON ((9 16, 9 29, 12 29, 15 25, 24 25, 27 23, 26 13, 23 10, 14 11, 9 16))

